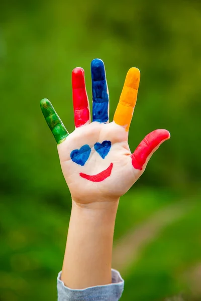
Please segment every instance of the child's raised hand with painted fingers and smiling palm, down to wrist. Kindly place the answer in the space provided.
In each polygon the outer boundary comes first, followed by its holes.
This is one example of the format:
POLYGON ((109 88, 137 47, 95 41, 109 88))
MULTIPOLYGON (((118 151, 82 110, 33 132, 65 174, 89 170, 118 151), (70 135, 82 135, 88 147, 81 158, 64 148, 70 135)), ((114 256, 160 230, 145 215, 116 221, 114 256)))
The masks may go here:
POLYGON ((169 139, 165 129, 149 133, 131 154, 128 130, 137 100, 140 72, 126 76, 114 120, 109 123, 109 94, 104 63, 91 62, 92 122, 84 70, 72 72, 75 130, 68 134, 48 99, 41 100, 44 117, 58 143, 62 172, 72 199, 80 204, 116 201, 138 180, 152 154, 169 139))

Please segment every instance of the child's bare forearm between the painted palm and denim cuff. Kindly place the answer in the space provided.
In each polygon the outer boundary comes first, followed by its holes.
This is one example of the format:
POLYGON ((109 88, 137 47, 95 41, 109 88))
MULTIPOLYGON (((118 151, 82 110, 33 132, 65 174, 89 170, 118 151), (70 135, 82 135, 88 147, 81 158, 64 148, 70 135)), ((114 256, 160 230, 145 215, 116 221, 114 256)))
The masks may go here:
POLYGON ((80 206, 72 201, 61 279, 81 289, 111 283, 112 246, 119 200, 80 206))

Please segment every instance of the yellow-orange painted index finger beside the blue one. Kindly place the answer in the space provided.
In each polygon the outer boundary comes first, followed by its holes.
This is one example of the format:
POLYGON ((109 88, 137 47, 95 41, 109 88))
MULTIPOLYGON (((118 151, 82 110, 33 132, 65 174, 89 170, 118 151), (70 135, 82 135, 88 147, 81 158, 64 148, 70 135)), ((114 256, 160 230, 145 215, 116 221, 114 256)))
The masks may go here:
POLYGON ((128 131, 133 117, 133 111, 137 100, 140 83, 140 71, 137 68, 129 69, 122 94, 114 115, 114 121, 125 127, 128 131))

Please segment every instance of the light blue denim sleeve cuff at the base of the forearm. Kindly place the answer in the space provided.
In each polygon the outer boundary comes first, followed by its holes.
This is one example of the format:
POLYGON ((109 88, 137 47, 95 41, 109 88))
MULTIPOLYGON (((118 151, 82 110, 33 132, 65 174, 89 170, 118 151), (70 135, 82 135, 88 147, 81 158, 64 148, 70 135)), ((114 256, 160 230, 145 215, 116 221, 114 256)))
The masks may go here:
POLYGON ((71 289, 61 281, 61 272, 57 277, 58 301, 118 301, 124 289, 124 280, 120 273, 112 269, 112 283, 84 289, 71 289))

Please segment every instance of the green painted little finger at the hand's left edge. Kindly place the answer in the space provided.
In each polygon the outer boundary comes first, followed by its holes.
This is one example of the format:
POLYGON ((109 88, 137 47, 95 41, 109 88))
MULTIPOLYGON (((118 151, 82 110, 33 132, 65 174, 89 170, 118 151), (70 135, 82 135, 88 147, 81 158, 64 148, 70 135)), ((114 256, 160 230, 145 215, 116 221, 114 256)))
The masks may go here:
POLYGON ((53 105, 47 98, 42 99, 40 105, 45 120, 53 133, 57 144, 63 142, 69 133, 57 115, 53 105))

